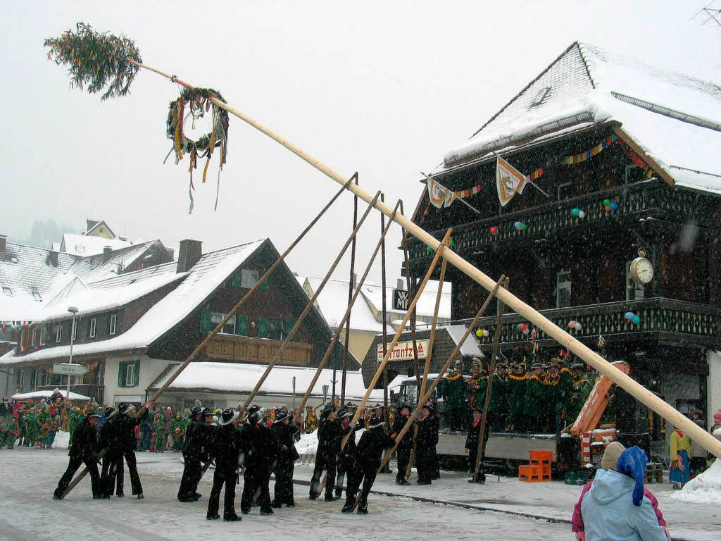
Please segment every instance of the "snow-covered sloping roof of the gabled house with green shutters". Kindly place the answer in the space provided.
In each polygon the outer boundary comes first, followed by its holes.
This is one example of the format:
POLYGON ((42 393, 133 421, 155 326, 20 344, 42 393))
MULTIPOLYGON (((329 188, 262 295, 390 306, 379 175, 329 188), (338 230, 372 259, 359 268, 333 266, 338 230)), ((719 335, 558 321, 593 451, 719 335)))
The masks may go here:
MULTIPOLYGON (((197 308, 203 301, 215 291, 218 286, 229 278, 236 268, 252 255, 266 239, 255 240, 244 245, 217 250, 216 252, 208 252, 193 265, 188 271, 185 279, 159 302, 153 305, 130 329, 125 333, 111 338, 110 340, 99 340, 97 342, 76 344, 73 348, 73 354, 76 356, 96 355, 100 353, 111 353, 113 351, 142 350, 147 348, 156 340, 161 338, 165 333, 172 329, 175 325, 190 315, 193 309, 197 308)), ((163 268, 175 268, 174 263, 166 265, 158 265, 160 269, 157 271, 164 275, 163 268)), ((151 283, 154 282, 153 268, 143 271, 137 271, 141 277, 147 278, 151 283)), ((125 280, 131 274, 119 279, 119 285, 123 286, 125 280)), ((143 280, 139 282, 142 287, 143 280)), ((155 283, 161 283, 159 281, 155 283)), ((100 288, 102 289, 100 284, 100 288)), ((105 285, 108 285, 107 283, 105 285)), ((125 284, 127 287, 127 284, 125 284)), ((70 353, 70 346, 56 346, 53 348, 40 349, 31 353, 15 355, 13 351, 9 351, 0 358, 0 364, 15 364, 32 361, 43 361, 45 359, 55 359, 58 357, 66 357, 70 353)))

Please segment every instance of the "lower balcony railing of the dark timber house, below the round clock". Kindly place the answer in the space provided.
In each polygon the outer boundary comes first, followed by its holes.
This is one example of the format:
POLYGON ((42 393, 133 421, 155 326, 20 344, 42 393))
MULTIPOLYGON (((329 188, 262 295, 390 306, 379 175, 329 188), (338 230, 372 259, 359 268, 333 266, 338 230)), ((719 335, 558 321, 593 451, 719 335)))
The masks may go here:
MULTIPOLYGON (((706 304, 679 302, 672 299, 654 298, 642 301, 609 302, 590 304, 570 308, 541 310, 547 317, 571 335, 580 340, 597 340, 598 335, 611 339, 639 338, 647 335, 650 338, 673 339, 683 338, 687 343, 708 347, 721 346, 721 309, 706 304), (638 325, 625 318, 627 312, 633 312, 640 318, 638 325), (580 323, 580 330, 571 330, 568 322, 580 323)), ((483 317, 478 321, 477 328, 485 329, 489 335, 477 338, 482 350, 490 349, 495 335, 497 317, 483 317)), ((503 347, 528 344, 534 326, 517 314, 504 317, 500 331, 500 343, 503 347), (518 330, 519 323, 528 324, 528 335, 518 330)), ((537 338, 541 342, 554 341, 547 333, 537 330, 537 338)))

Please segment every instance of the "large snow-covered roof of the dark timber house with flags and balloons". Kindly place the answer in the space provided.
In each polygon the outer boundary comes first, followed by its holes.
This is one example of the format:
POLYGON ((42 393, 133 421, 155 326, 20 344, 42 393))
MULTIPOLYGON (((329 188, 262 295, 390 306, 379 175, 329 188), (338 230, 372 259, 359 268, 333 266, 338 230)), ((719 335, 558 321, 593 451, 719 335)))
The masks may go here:
POLYGON ((469 141, 447 151, 436 173, 609 121, 620 123, 670 181, 721 193, 721 178, 715 176, 721 175, 715 159, 721 148, 721 87, 578 42, 469 141))

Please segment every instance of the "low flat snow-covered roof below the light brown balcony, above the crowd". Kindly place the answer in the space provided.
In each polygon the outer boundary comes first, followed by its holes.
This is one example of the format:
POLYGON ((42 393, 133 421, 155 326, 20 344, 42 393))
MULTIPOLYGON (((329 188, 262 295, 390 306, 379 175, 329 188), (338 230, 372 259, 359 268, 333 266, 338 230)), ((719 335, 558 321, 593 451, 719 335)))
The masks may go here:
MULTIPOLYGON (((168 387, 168 390, 182 391, 218 391, 247 393, 253 390, 255 384, 265 371, 265 364, 243 363, 190 363, 180 376, 168 387)), ((173 370, 167 370, 158 379, 151 383, 149 390, 158 389, 167 382, 173 370)), ((293 377, 296 378, 296 395, 302 396, 311 384, 316 373, 314 368, 298 366, 273 366, 268 377, 260 387, 261 395, 293 395, 293 377)), ((311 397, 323 397, 323 385, 332 387, 332 369, 322 369, 318 381, 313 387, 311 397)), ((402 377, 395 378, 389 387, 402 382, 402 377)), ((337 390, 340 390, 340 371, 337 371, 337 390)), ((348 400, 361 400, 366 394, 361 371, 346 372, 345 397, 348 400)), ((383 390, 373 390, 370 400, 383 400, 383 390)))

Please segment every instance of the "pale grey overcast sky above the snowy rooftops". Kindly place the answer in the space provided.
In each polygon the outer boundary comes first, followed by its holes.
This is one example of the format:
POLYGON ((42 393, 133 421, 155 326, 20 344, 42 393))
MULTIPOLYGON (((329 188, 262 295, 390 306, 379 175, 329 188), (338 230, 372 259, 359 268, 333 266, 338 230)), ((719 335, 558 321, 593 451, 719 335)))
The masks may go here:
MULTIPOLYGON (((177 88, 141 71, 131 95, 100 102, 69 89, 43 39, 77 21, 136 41, 143 61, 226 100, 407 214, 419 170, 433 168, 574 40, 718 82, 721 33, 689 18, 707 0, 676 1, 16 1, 0 23, 0 234, 28 237, 53 218, 87 217, 118 234, 203 250, 270 237, 285 250, 335 182, 231 117, 216 195, 216 158, 187 214, 187 159, 163 164, 177 88)), ((206 130, 207 131, 207 130, 206 130)), ((200 164, 199 164, 200 167, 200 164)), ((196 175, 200 175, 200 169, 196 175)), ((495 194, 489 194, 494 196, 495 194)), ((458 203, 456 203, 458 204, 458 203)), ((361 202, 361 208, 365 203, 361 202)), ((350 233, 344 195, 289 260, 322 276, 350 233)), ((380 230, 360 237, 361 270, 380 230)), ((399 229, 387 276, 399 276, 399 229)), ((59 240, 59 239, 58 239, 59 240)), ((350 250, 349 250, 350 251, 350 250)), ((347 259, 335 272, 348 273, 347 259)), ((373 280, 380 279, 379 271, 373 280)))

